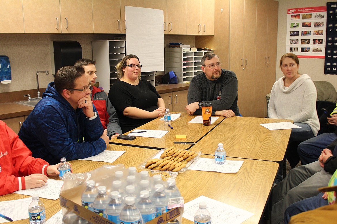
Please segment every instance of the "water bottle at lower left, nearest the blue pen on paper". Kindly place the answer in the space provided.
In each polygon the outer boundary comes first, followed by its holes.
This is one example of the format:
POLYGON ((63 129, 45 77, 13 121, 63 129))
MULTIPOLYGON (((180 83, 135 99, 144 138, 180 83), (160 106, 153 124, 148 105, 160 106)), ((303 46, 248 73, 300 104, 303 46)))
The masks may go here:
POLYGON ((45 208, 43 203, 39 200, 38 194, 32 195, 32 202, 28 207, 29 223, 41 224, 45 222, 45 208))

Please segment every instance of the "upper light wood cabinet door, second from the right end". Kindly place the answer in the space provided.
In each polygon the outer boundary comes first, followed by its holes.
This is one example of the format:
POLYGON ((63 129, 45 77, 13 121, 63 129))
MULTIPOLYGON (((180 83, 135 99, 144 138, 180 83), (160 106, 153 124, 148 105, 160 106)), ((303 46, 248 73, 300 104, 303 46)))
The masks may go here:
POLYGON ((186 34, 202 34, 200 0, 186 0, 186 34))

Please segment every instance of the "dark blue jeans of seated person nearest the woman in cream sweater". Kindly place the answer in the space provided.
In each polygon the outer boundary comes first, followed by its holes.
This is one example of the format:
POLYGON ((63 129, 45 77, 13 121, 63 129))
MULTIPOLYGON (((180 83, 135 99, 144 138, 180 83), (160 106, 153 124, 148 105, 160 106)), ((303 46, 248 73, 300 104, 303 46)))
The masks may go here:
POLYGON ((320 153, 337 138, 335 133, 323 133, 301 142, 297 148, 302 165, 318 160, 320 153))

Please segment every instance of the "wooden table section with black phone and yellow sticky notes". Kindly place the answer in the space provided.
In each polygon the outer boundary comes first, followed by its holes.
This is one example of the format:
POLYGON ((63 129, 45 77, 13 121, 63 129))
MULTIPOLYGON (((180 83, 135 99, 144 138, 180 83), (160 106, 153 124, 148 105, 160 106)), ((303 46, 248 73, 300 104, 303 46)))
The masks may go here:
MULTIPOLYGON (((178 114, 177 112, 172 112, 172 114, 178 114)), ((203 124, 188 123, 190 120, 195 118, 195 116, 190 116, 187 113, 180 113, 180 117, 172 121, 170 125, 173 127, 171 129, 168 127, 167 123, 159 120, 160 118, 154 119, 149 123, 142 125, 136 129, 146 129, 146 130, 165 130, 168 131, 162 138, 147 138, 137 136, 134 140, 123 140, 123 139, 112 139, 110 143, 119 144, 119 145, 128 145, 128 146, 137 146, 137 147, 147 147, 147 148, 168 148, 171 146, 176 146, 179 149, 188 149, 192 145, 185 144, 174 144, 175 141, 189 141, 197 142, 203 137, 205 137, 213 128, 215 128, 220 122, 225 118, 218 117, 218 119, 211 124, 210 126, 203 126, 203 124), (187 139, 176 140, 176 135, 186 135, 187 139)), ((132 131, 129 131, 125 134, 128 134, 132 131)))

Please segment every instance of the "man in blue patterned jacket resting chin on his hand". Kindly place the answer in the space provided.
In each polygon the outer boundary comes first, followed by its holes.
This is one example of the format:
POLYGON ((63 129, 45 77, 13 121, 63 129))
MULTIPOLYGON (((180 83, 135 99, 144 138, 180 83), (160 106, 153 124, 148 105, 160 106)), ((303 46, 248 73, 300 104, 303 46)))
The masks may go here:
POLYGON ((90 93, 90 81, 83 68, 59 69, 19 132, 35 158, 55 164, 62 157, 83 159, 105 150, 109 137, 90 93))

